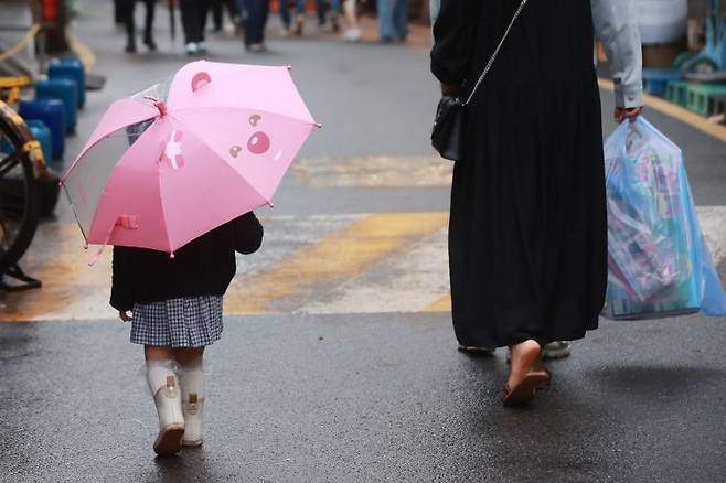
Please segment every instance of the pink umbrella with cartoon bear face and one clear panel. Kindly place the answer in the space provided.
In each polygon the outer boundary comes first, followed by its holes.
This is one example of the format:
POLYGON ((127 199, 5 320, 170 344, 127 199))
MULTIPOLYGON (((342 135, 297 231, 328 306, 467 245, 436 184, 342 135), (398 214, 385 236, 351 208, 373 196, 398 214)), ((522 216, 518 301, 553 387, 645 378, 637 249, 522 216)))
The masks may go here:
POLYGON ((173 257, 217 226, 271 206, 317 127, 289 67, 192 62, 111 104, 62 184, 86 245, 173 257))

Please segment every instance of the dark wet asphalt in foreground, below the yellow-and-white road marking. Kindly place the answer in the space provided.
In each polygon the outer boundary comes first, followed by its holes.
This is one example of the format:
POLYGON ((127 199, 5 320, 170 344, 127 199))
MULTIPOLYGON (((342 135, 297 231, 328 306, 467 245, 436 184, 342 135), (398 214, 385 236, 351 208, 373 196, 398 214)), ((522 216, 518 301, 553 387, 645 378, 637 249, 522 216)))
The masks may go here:
POLYGON ((724 321, 606 322, 534 407, 444 314, 227 319, 207 437, 154 459, 120 322, 0 324, 3 481, 719 482, 724 321), (687 330, 684 330, 687 328, 687 330), (677 336, 674 337, 674 334, 677 336))

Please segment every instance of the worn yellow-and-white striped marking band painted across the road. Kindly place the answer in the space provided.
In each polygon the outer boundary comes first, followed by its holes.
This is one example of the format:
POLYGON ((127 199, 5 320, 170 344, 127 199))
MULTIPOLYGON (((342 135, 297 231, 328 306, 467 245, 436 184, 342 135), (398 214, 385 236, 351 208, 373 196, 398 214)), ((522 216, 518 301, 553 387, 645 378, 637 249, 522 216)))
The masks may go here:
MULTIPOLYGON (((726 206, 698 208, 714 261, 726 276, 726 206)), ((382 213, 264 217, 266 237, 239 256, 225 298, 229 314, 448 312, 448 214, 382 213)), ((7 293, 0 321, 100 320, 110 250, 94 267, 74 224, 43 224, 23 267, 41 290, 7 293)), ((725 282, 726 282, 726 277, 725 282)))

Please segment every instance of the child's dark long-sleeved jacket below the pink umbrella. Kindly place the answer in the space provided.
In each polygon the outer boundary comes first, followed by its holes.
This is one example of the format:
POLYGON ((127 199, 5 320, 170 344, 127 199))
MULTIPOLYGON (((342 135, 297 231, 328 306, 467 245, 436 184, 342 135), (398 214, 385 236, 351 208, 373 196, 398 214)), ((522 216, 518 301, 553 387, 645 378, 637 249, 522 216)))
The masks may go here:
POLYGON ((236 272, 235 251, 252 254, 263 242, 263 226, 247 213, 169 254, 114 247, 110 304, 132 310, 182 297, 223 296, 236 272))

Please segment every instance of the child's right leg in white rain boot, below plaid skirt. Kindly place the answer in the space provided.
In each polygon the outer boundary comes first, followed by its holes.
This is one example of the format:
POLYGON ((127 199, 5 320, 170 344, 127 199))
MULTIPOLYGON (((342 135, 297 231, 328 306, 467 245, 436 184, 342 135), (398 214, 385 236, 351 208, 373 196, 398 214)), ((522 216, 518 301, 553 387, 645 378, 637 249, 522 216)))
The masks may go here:
POLYGON ((174 352, 182 369, 182 410, 185 421, 182 444, 197 447, 203 440, 204 347, 177 348, 174 352))

